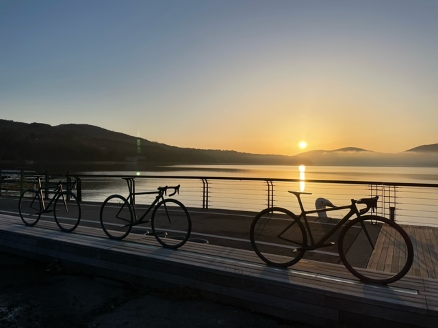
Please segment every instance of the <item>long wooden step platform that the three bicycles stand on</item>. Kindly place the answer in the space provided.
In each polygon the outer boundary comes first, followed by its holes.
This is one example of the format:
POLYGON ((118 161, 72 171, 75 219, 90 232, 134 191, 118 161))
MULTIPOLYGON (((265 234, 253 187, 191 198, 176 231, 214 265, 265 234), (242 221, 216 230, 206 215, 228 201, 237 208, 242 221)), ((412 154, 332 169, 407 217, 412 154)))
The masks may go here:
POLYGON ((435 328, 437 234, 423 227, 409 234, 416 247, 412 275, 378 286, 359 282, 339 264, 301 260, 289 269, 272 268, 245 249, 187 243, 170 250, 150 236, 112 241, 98 228, 79 226, 66 234, 52 222, 30 228, 16 216, 0 214, 0 245, 13 254, 56 258, 160 288, 188 286, 218 301, 317 327, 435 328))

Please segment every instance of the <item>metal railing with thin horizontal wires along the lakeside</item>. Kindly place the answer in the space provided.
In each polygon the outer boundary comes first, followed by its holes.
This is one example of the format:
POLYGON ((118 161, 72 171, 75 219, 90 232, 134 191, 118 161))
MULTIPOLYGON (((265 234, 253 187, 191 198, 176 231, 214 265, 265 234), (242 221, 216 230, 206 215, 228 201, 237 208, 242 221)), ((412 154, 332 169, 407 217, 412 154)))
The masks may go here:
MULTIPOLYGON (((0 181, 0 195, 18 196, 25 187, 31 187, 34 177, 49 180, 70 180, 67 174, 29 174, 21 172, 16 179, 0 181)), ((103 202, 108 195, 127 195, 127 185, 122 176, 79 175, 77 195, 79 200, 103 202)), ((127 177, 127 176, 125 176, 127 177)), ((438 184, 393 183, 372 181, 300 180, 270 178, 227 178, 207 176, 138 176, 136 189, 154 190, 158 186, 181 184, 177 195, 185 206, 191 208, 222 208, 258 212, 270 206, 289 208, 298 213, 298 202, 289 190, 307 191, 302 201, 307 209, 315 206, 317 197, 329 199, 335 205, 345 205, 350 199, 379 196, 378 215, 415 225, 438 226, 438 184)), ((149 203, 147 196, 136 202, 149 203)), ((332 212, 333 217, 343 213, 332 212)))

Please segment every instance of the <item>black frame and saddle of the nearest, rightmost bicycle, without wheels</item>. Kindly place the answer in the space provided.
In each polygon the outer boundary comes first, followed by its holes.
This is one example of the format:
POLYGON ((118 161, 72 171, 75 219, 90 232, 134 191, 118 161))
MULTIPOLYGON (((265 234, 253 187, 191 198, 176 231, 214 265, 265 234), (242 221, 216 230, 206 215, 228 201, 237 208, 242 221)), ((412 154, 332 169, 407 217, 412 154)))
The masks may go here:
MULTIPOLYGON (((300 205, 300 209, 301 209, 301 213, 300 215, 298 215, 298 220, 301 221, 301 219, 303 219, 302 221, 304 221, 305 223, 305 228, 306 228, 306 232, 309 235, 310 238, 310 245, 303 245, 302 247, 299 247, 298 250, 301 249, 305 249, 306 251, 311 251, 314 249, 318 249, 318 248, 322 248, 322 247, 329 247, 331 245, 333 245, 333 243, 325 243, 331 236, 333 236, 333 234, 339 229, 341 228, 341 226, 344 225, 344 223, 346 223, 346 221, 348 221, 348 219, 350 219, 352 216, 356 215, 357 217, 360 217, 362 214, 368 212, 368 210, 370 208, 365 208, 363 210, 359 210, 356 206, 356 202, 355 200, 351 200, 351 204, 350 205, 346 205, 346 206, 334 206, 331 208, 320 208, 317 210, 305 210, 304 206, 302 205, 302 201, 300 198, 301 194, 305 194, 305 195, 311 195, 311 193, 302 193, 302 192, 295 192, 295 191, 289 191, 289 193, 292 193, 294 195, 296 195, 297 199, 298 199, 298 204, 300 205), (315 214, 315 213, 326 213, 326 212, 331 212, 334 210, 346 210, 349 209, 348 213, 342 218, 340 219, 340 221, 338 223, 335 224, 335 226, 333 228, 331 228, 331 230, 329 232, 326 232, 326 234, 324 234, 324 236, 322 236, 322 238, 320 238, 319 241, 317 241, 315 243, 315 240, 313 239, 313 234, 309 225, 309 221, 307 220, 307 215, 309 214, 315 214)), ((291 228, 294 225, 295 222, 292 222, 289 224, 289 226, 287 226, 280 234, 279 234, 279 238, 281 238, 281 235, 283 233, 285 233, 287 230, 289 230, 289 228, 291 228)), ((365 230, 365 234, 367 234, 368 236, 368 232, 366 232, 365 230)), ((369 238, 369 237, 368 237, 369 238)), ((284 238, 283 238, 284 239, 284 238)))

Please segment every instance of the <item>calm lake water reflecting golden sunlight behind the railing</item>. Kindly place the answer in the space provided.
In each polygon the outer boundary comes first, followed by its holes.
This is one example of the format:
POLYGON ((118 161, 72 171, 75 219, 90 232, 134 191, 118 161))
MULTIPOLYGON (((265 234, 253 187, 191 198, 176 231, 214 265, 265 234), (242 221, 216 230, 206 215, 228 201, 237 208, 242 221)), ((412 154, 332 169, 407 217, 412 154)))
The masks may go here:
MULTIPOLYGON (((136 179, 136 191, 154 190, 157 185, 181 184, 178 199, 187 206, 203 206, 203 182, 206 178, 209 188, 209 208, 231 208, 238 210, 261 210, 268 206, 270 191, 266 181, 246 182, 220 180, 220 178, 262 178, 294 179, 276 181, 272 187, 274 205, 299 213, 296 199, 288 190, 307 191, 303 196, 305 208, 313 209, 317 197, 329 198, 336 205, 346 205, 351 198, 359 199, 370 195, 381 196, 381 210, 378 213, 389 217, 389 208, 397 209, 397 219, 404 223, 438 222, 438 167, 348 167, 348 166, 283 166, 283 165, 172 165, 150 167, 141 170, 135 163, 129 163, 124 170, 83 171, 78 174, 90 176, 159 176, 163 178, 136 179), (166 177, 169 178, 166 178, 166 177), (182 179, 173 177, 193 177, 182 179), (208 179, 211 178, 211 179, 208 179), (322 182, 312 182, 318 180, 322 182), (371 184, 339 184, 328 181, 373 182, 371 184), (379 187, 381 182, 430 184, 430 187, 379 187), (435 184, 435 185, 434 185, 435 184), (377 187, 376 187, 377 186, 377 187), (375 190, 373 188, 376 188, 375 190)), ((120 178, 92 178, 83 181, 83 194, 88 200, 103 201, 107 195, 127 195, 127 184, 120 178)), ((138 197, 138 202, 149 203, 147 196, 138 197)), ((344 213, 339 213, 342 217, 344 213)), ((336 217, 336 215, 333 215, 336 217)))

